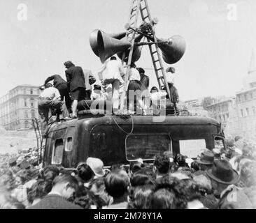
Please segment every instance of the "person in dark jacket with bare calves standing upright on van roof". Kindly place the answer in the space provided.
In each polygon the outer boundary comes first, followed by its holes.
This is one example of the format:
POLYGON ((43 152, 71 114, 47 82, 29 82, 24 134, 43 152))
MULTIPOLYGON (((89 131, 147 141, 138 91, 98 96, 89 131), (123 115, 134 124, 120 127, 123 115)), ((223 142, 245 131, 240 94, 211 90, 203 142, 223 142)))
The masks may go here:
POLYGON ((76 109, 78 106, 78 101, 89 100, 87 98, 85 91, 85 75, 81 67, 75 66, 71 61, 66 61, 64 63, 66 67, 66 82, 69 87, 72 100, 72 116, 77 118, 76 109))

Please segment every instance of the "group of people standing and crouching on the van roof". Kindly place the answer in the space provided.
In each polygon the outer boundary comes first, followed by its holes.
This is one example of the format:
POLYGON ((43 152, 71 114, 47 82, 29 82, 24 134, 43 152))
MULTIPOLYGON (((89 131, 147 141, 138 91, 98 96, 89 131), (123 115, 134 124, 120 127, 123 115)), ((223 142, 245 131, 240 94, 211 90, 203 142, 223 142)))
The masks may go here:
MULTIPOLYGON (((56 112, 57 121, 60 114, 64 119, 77 118, 78 102, 82 100, 111 101, 113 114, 122 114, 126 111, 128 114, 157 115, 161 105, 162 109, 165 109, 166 103, 162 101, 169 98, 166 89, 159 91, 153 86, 149 91, 150 79, 145 75, 143 68, 136 68, 135 63, 131 63, 130 72, 127 72, 127 67, 124 67, 115 56, 111 56, 98 72, 101 85, 94 84, 96 79, 91 70, 75 66, 71 61, 66 61, 64 66, 66 80, 60 75, 50 75, 41 86, 38 113, 43 138, 48 132, 49 109, 56 112), (128 110, 125 109, 125 104, 128 110)), ((169 101, 178 114, 178 91, 174 86, 174 73, 174 68, 166 69, 166 82, 171 93, 169 101)), ((165 82, 164 79, 161 81, 165 82)))

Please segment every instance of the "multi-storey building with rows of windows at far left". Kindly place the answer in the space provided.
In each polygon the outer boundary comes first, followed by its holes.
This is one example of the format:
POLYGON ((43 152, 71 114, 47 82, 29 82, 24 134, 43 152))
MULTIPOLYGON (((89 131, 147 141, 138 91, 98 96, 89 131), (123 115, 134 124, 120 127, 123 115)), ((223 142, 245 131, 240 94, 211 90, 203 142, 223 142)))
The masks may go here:
POLYGON ((32 128, 31 118, 38 118, 38 86, 20 85, 0 98, 0 125, 6 130, 32 128))

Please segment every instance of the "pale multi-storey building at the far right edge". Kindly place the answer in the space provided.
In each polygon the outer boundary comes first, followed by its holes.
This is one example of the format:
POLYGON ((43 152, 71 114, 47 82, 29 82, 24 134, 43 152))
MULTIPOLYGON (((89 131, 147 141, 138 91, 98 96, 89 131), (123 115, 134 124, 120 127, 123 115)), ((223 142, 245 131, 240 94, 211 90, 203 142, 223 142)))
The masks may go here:
POLYGON ((251 56, 243 87, 234 98, 222 100, 208 107, 208 115, 222 122, 225 134, 256 139, 256 58, 251 56))

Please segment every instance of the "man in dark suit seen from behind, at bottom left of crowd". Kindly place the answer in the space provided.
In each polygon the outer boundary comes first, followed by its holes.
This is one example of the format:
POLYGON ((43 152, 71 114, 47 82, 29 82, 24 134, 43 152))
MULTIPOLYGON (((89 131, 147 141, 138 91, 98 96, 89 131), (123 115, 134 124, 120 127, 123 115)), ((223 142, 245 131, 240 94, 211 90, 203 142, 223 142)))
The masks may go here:
POLYGON ((28 209, 82 209, 72 199, 78 190, 78 180, 69 174, 57 176, 52 182, 52 190, 41 201, 28 209))

